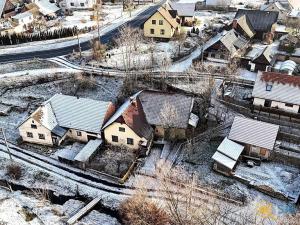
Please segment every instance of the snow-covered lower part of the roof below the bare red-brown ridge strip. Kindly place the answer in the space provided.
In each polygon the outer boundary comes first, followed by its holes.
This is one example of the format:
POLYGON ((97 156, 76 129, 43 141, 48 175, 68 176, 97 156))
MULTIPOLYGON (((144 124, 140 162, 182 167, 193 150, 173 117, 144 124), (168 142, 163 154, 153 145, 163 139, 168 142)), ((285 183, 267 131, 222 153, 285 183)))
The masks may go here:
MULTIPOLYGON (((286 76, 292 77, 291 75, 282 74, 283 81, 286 78, 286 76)), ((262 77, 262 73, 259 72, 257 74, 255 85, 252 92, 253 97, 300 105, 300 87, 298 85, 291 85, 288 83, 279 83, 279 82, 273 82, 273 83, 268 82, 268 84, 272 84, 272 89, 271 91, 267 91, 266 90, 267 82, 262 80, 261 77, 262 77)))

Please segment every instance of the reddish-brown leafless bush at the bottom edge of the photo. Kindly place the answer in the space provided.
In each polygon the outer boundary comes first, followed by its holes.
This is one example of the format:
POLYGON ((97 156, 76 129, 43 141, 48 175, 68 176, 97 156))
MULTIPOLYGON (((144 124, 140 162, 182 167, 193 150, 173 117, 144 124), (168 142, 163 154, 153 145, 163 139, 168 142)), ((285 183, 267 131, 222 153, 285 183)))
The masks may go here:
POLYGON ((169 215, 154 202, 141 195, 134 195, 120 206, 120 215, 125 225, 168 225, 169 215))

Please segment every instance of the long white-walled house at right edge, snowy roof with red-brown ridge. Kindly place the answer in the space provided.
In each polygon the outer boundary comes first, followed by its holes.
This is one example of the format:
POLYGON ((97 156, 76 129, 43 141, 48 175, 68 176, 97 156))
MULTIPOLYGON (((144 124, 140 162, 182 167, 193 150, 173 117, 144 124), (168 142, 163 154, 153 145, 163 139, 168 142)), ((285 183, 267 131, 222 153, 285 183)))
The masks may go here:
POLYGON ((253 104, 300 113, 300 77, 275 72, 257 74, 253 104))

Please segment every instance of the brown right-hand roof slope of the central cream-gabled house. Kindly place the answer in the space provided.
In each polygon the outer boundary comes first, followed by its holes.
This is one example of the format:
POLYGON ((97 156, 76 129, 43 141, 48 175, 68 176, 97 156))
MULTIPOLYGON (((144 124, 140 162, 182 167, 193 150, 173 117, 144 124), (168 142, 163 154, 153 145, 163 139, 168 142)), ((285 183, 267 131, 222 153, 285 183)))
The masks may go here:
POLYGON ((146 120, 141 101, 138 97, 131 101, 131 104, 122 113, 122 118, 119 118, 118 121, 124 122, 137 135, 146 139, 149 139, 153 132, 152 127, 146 120))

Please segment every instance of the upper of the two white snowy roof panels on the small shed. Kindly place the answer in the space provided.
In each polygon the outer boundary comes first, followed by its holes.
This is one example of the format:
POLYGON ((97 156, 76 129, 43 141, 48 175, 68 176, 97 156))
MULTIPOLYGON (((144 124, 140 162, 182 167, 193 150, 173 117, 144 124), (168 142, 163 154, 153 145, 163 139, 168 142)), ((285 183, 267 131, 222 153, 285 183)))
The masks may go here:
POLYGON ((234 141, 229 140, 227 137, 224 138, 224 140, 218 147, 219 152, 221 152, 222 154, 228 156, 233 160, 238 160, 243 150, 244 150, 243 145, 235 143, 234 141))

